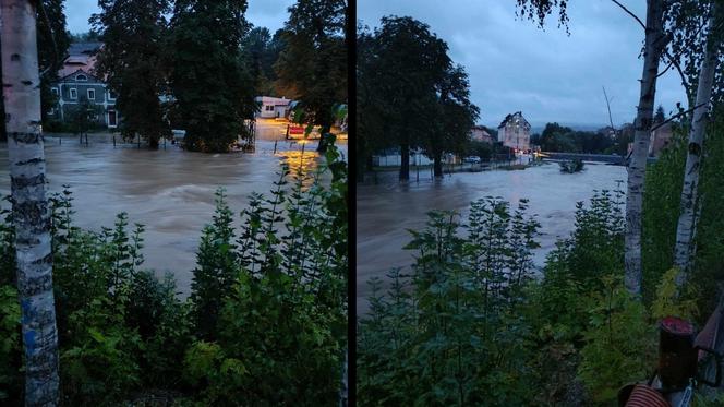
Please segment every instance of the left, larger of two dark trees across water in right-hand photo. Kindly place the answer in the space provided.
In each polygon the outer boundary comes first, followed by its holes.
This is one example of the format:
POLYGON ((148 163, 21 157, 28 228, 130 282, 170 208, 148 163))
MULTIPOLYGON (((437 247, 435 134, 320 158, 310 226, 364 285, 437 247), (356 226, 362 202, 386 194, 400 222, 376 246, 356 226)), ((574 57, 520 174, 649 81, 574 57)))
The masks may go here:
POLYGON ((430 119, 438 117, 437 86, 451 65, 447 45, 426 24, 397 16, 383 17, 370 41, 358 80, 363 122, 370 123, 362 128, 364 137, 399 146, 399 179, 408 180, 410 149, 421 147, 436 129, 430 119))

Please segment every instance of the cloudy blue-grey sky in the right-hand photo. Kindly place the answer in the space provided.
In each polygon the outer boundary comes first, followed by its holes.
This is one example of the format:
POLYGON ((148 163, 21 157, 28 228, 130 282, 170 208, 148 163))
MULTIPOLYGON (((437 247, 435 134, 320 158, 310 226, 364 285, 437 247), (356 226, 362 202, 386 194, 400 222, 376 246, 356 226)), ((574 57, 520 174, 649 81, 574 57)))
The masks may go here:
MULTIPOLYGON (((384 15, 410 15, 447 41, 470 75, 481 123, 499 124, 521 110, 534 127, 558 121, 608 122, 601 86, 612 100, 614 124, 632 121, 643 61, 643 29, 611 0, 569 1, 570 36, 516 19, 515 0, 359 0, 358 19, 370 27, 384 15)), ((622 0, 645 19, 645 0, 622 0)), ((660 77, 656 104, 668 113, 686 99, 675 70, 660 77)))

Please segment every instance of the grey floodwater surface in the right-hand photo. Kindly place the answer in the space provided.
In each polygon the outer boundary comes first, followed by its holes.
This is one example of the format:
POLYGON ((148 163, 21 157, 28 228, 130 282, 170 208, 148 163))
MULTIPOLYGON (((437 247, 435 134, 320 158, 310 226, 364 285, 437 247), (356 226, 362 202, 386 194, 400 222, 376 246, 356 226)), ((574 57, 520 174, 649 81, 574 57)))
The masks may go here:
MULTIPOLYGON (((587 201, 595 190, 615 190, 617 181, 626 180, 626 168, 589 164, 578 173, 562 173, 555 163, 517 171, 455 173, 442 181, 422 179, 399 184, 396 173, 386 173, 376 185, 359 185, 357 190, 357 306, 366 312, 370 295, 367 282, 382 277, 391 267, 407 266, 412 253, 401 248, 410 241, 407 229, 420 229, 431 210, 454 210, 467 216, 471 201, 484 196, 502 196, 515 203, 530 200, 529 213, 541 224, 535 263, 559 238, 574 227, 576 202, 587 201)), ((625 183, 622 184, 625 187, 625 183)))

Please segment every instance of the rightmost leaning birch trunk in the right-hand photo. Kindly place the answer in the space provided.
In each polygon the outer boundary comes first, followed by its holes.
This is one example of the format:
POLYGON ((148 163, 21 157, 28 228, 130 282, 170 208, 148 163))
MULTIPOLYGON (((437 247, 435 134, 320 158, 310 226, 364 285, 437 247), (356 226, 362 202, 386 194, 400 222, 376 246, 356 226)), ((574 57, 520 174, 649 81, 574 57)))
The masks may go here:
POLYGON ((677 286, 681 287, 686 282, 690 270, 692 253, 692 240, 696 235, 695 214, 697 204, 697 191, 699 189, 699 175, 701 172, 701 156, 703 154, 704 130, 709 122, 709 101, 712 87, 714 86, 714 73, 716 72, 717 48, 714 34, 714 13, 709 19, 709 38, 707 39, 704 60, 699 71, 699 83, 697 85, 697 100, 693 105, 691 129, 689 130, 688 153, 684 170, 684 188, 681 189, 680 214, 676 227, 676 247, 674 249, 674 265, 679 268, 676 276, 677 286))

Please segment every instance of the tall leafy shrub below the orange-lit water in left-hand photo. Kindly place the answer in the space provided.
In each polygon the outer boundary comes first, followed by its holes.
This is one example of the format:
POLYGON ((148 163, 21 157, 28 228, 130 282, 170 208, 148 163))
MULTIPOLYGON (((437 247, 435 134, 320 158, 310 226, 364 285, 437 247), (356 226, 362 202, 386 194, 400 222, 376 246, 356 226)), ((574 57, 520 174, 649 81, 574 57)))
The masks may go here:
POLYGON ((186 375, 206 404, 326 405, 339 397, 347 169, 333 147, 316 173, 299 169, 291 188, 289 176, 283 167, 268 197, 251 196, 239 232, 222 192, 217 194, 192 295, 194 312, 217 322, 197 325, 200 333, 213 328, 214 336, 201 336, 204 342, 194 343, 185 358, 186 375), (209 303, 214 298, 220 301, 209 303))

